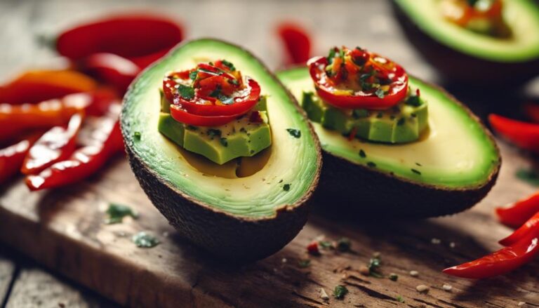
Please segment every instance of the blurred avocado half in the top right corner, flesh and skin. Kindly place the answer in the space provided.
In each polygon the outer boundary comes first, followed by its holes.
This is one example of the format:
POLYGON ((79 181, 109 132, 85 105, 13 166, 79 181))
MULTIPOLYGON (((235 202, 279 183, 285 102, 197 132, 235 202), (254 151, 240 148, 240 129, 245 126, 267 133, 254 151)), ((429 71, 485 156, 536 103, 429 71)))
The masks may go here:
POLYGON ((394 13, 411 45, 448 81, 518 85, 539 76, 539 6, 504 1, 510 39, 463 29, 444 19, 439 0, 393 0, 394 13))

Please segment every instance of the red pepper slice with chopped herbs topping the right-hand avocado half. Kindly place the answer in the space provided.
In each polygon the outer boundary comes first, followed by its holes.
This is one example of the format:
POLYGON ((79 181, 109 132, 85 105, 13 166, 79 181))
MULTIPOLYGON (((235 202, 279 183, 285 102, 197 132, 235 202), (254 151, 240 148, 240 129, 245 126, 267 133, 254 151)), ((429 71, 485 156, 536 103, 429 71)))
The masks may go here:
POLYGON ((312 58, 307 65, 318 95, 335 107, 387 109, 408 92, 408 74, 400 65, 361 48, 334 48, 328 58, 312 58))

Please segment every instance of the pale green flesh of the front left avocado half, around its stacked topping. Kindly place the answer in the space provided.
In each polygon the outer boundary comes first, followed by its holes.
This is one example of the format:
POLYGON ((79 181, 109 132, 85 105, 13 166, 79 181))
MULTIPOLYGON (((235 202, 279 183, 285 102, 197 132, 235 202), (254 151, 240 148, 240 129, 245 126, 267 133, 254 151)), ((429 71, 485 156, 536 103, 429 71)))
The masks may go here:
MULTIPOLYGON (((317 141, 295 100, 253 55, 229 43, 212 39, 190 41, 145 70, 124 98, 122 121, 127 122, 122 129, 133 155, 159 180, 225 213, 257 219, 274 217, 277 209, 293 207, 305 198, 317 180, 317 141), (244 76, 258 81, 261 95, 267 97, 267 114, 271 116, 272 146, 262 151, 269 156, 267 162, 258 172, 242 178, 208 175, 189 163, 183 154, 186 151, 182 152, 158 130, 161 119, 158 89, 163 76, 217 59, 229 60, 244 76), (288 128, 300 130, 301 137, 294 138, 288 128)), ((171 137, 174 138, 180 136, 171 137)), ((232 146, 230 143, 228 147, 232 146)), ((220 170, 228 165, 206 161, 209 169, 220 170)))

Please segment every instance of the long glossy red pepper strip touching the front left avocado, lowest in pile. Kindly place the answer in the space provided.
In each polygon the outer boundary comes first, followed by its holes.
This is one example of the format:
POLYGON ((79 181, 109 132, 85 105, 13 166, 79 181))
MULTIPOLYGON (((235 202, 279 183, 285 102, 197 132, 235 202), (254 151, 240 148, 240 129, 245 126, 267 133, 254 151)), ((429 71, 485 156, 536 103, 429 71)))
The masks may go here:
POLYGON ((124 149, 118 112, 104 116, 92 137, 91 143, 77 149, 70 159, 53 164, 39 175, 28 175, 28 188, 36 191, 61 187, 84 180, 98 172, 114 154, 124 149))

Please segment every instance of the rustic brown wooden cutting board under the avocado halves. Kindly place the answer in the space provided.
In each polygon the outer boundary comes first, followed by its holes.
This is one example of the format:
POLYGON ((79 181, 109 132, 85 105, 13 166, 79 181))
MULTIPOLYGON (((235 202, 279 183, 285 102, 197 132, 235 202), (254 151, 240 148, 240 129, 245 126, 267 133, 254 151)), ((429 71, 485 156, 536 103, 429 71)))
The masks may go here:
MULTIPOLYGON (((514 178, 526 159, 502 147, 503 168, 491 194, 472 210, 425 221, 376 221, 319 213, 294 241, 265 260, 234 267, 182 240, 152 206, 138 186, 128 163, 119 158, 106 170, 79 185, 54 192, 30 193, 22 180, 0 192, 0 241, 46 267, 92 288, 105 297, 133 307, 539 307, 533 262, 507 276, 484 281, 441 274, 448 265, 471 260, 492 250, 510 229, 495 221, 493 207, 534 191, 514 178), (138 220, 105 225, 110 202, 138 210, 138 220), (155 248, 137 248, 136 232, 152 232, 155 248), (317 236, 352 239, 352 252, 305 253, 317 236), (436 240, 439 239, 440 243, 436 240), (382 272, 399 275, 397 282, 363 276, 359 268, 378 251, 382 272), (299 260, 310 258, 307 268, 299 260), (410 276, 415 270, 419 276, 410 276), (446 283, 451 292, 442 290, 446 283), (324 288, 344 285, 344 300, 324 302, 324 288), (415 287, 430 286, 427 294, 415 287), (404 303, 396 300, 399 295, 404 303)), ((351 204, 354 201, 351 200, 351 204)), ((318 204, 323 207, 324 204, 318 204)), ((412 206, 412 205, 411 205, 412 206)), ((365 218, 365 217, 362 217, 365 218)))

